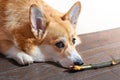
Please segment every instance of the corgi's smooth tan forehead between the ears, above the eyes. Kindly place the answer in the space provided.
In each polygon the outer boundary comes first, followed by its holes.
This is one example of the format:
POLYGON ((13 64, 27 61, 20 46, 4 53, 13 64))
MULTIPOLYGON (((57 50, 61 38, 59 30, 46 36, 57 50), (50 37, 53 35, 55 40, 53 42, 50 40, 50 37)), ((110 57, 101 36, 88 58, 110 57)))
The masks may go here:
POLYGON ((75 31, 69 21, 53 21, 48 26, 48 32, 53 36, 70 37, 75 31))

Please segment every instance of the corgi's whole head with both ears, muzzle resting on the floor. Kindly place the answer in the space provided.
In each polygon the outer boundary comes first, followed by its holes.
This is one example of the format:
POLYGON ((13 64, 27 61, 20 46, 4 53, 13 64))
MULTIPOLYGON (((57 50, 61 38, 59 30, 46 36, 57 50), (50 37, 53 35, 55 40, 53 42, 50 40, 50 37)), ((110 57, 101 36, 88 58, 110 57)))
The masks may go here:
POLYGON ((80 43, 75 31, 80 10, 80 2, 76 2, 62 16, 51 14, 49 11, 46 14, 35 5, 31 7, 31 29, 36 39, 40 40, 38 46, 46 60, 52 59, 65 67, 83 64, 75 49, 80 43))

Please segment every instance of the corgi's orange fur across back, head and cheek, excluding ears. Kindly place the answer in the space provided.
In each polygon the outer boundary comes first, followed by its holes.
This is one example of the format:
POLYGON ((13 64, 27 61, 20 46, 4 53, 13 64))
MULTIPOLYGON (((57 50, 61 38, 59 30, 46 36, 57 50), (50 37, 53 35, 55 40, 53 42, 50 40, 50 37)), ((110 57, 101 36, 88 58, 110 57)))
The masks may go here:
POLYGON ((34 53, 35 46, 51 45, 63 56, 70 55, 68 52, 65 54, 65 51, 69 45, 75 50, 71 36, 77 39, 78 37, 69 19, 65 20, 65 18, 68 16, 51 8, 43 0, 0 0, 0 52, 5 54, 10 47, 15 45, 31 55, 34 53), (31 31, 29 18, 33 4, 41 9, 47 20, 45 35, 41 38, 36 38, 31 31), (67 39, 64 49, 55 47, 60 37, 67 39))

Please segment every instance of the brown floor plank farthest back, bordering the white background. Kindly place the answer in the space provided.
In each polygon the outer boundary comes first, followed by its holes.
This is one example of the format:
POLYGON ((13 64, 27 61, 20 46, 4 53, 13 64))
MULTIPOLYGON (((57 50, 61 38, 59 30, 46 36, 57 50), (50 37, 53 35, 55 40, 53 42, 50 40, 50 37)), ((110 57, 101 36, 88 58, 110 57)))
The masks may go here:
POLYGON ((120 42, 120 28, 80 35, 82 44, 77 47, 79 51, 93 49, 99 46, 120 42))

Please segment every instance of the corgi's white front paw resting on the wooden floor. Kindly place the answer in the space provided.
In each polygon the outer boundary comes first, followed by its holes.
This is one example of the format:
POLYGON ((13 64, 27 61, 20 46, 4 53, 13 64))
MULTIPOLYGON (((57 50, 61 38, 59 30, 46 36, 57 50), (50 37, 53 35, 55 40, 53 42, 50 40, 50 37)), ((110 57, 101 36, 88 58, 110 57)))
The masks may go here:
POLYGON ((17 53, 14 59, 21 65, 33 63, 33 58, 24 52, 17 53))

